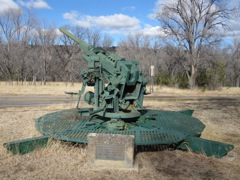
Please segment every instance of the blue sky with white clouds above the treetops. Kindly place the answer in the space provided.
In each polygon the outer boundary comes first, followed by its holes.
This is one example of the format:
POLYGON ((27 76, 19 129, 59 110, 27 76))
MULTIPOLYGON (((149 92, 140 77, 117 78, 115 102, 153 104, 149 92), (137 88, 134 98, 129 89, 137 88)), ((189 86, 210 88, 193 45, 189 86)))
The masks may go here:
MULTIPOLYGON (((30 8, 37 17, 56 27, 77 25, 97 28, 116 41, 129 33, 162 35, 158 20, 153 18, 159 3, 173 0, 0 0, 0 13, 7 8, 30 8)), ((232 6, 240 0, 228 0, 232 6)), ((240 21, 229 22, 231 37, 239 35, 240 21)))

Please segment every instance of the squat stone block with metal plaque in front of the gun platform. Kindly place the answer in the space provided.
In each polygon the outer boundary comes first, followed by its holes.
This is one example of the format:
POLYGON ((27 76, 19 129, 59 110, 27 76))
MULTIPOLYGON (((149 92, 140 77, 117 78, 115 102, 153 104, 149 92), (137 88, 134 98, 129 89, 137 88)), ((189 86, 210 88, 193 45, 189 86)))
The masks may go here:
POLYGON ((86 165, 100 169, 136 169, 134 166, 134 136, 90 133, 86 165))

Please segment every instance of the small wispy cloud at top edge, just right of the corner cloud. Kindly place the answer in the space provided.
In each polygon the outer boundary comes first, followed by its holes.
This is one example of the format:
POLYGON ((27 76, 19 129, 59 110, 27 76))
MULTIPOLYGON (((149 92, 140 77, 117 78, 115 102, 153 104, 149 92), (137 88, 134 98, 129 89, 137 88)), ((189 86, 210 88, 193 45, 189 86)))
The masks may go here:
POLYGON ((30 0, 30 1, 17 1, 21 6, 25 6, 27 8, 36 8, 36 9, 52 9, 47 2, 44 0, 30 0))

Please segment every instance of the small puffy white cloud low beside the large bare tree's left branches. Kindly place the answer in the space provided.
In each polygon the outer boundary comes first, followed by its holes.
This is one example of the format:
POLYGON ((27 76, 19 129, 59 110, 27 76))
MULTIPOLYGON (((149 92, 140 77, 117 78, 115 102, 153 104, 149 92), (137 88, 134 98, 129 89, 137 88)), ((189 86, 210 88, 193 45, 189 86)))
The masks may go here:
POLYGON ((161 26, 151 26, 149 24, 146 24, 144 29, 140 30, 139 33, 148 37, 165 37, 166 36, 161 26))

